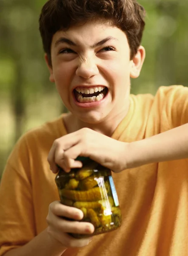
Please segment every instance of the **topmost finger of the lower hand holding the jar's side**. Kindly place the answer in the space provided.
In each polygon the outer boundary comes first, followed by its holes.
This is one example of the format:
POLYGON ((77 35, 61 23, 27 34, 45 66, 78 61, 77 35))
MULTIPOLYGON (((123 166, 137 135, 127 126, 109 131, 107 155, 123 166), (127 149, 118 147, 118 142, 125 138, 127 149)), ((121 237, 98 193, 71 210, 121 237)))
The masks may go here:
POLYGON ((51 212, 53 212, 54 215, 74 220, 81 220, 83 218, 83 212, 80 209, 63 205, 60 202, 51 206, 51 212))

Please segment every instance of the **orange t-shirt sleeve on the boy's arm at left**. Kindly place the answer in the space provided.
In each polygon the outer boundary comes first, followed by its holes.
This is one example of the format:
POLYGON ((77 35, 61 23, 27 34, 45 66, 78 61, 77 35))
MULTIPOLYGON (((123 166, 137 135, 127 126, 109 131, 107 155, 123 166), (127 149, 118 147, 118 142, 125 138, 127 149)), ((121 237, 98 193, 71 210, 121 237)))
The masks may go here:
POLYGON ((35 236, 29 155, 24 138, 11 153, 0 184, 0 256, 35 236))

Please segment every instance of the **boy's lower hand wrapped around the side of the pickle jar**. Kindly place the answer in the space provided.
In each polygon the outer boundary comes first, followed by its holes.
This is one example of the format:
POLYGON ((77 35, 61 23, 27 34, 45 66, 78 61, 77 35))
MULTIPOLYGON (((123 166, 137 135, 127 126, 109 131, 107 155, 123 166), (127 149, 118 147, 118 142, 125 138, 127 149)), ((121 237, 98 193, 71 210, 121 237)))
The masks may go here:
POLYGON ((84 239, 75 239, 68 233, 92 234, 94 226, 88 222, 80 222, 83 218, 83 212, 74 207, 68 207, 55 201, 50 204, 46 221, 48 223, 48 234, 58 241, 61 246, 68 247, 83 247, 90 241, 91 237, 84 239), (75 221, 68 221, 65 218, 71 218, 75 221))

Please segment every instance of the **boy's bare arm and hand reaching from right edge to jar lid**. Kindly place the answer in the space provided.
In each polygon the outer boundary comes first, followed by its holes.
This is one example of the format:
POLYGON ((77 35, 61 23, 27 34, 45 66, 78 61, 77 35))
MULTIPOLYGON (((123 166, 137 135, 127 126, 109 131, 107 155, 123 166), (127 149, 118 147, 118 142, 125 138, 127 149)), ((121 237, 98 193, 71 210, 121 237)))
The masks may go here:
POLYGON ((79 155, 90 157, 114 172, 148 163, 188 158, 188 123, 132 143, 83 128, 55 140, 48 162, 54 173, 57 172, 56 164, 69 172, 71 168, 82 166, 75 160, 79 155))

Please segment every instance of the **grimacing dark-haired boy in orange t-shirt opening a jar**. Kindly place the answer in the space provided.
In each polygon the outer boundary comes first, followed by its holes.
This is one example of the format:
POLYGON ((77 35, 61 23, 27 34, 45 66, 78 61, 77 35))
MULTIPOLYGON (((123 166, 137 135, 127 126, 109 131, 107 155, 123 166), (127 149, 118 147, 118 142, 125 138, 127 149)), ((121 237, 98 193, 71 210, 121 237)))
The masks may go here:
POLYGON ((50 81, 70 113, 29 131, 9 157, 0 255, 188 254, 188 88, 130 95, 145 58, 143 16, 133 0, 49 0, 43 7, 50 81), (114 172, 122 212, 118 230, 92 241, 68 235, 94 227, 81 221, 81 210, 60 204, 54 183, 57 164, 69 172, 81 167, 79 155, 114 172))

